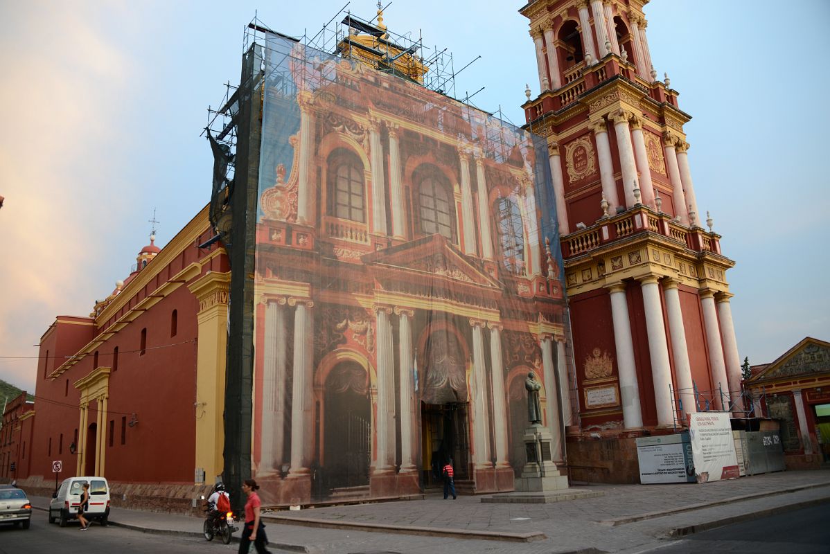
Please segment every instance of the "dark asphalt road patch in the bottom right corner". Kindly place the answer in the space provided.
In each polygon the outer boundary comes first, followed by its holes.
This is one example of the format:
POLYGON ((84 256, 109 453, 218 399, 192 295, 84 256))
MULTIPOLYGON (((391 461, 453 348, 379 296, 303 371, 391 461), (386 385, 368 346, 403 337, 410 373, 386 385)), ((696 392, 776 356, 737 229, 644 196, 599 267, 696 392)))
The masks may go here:
POLYGON ((827 554, 830 552, 828 504, 735 523, 690 535, 654 554, 827 554))

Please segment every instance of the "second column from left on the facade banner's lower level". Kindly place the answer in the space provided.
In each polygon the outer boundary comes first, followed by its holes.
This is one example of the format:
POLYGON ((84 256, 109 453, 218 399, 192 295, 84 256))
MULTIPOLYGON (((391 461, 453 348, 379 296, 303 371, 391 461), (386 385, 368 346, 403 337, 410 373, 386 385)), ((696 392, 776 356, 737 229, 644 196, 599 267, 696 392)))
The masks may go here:
POLYGON ((314 453, 314 419, 311 401, 311 375, 314 364, 314 338, 311 309, 308 299, 289 299, 294 310, 294 367, 291 387, 291 470, 288 477, 309 474, 314 453))

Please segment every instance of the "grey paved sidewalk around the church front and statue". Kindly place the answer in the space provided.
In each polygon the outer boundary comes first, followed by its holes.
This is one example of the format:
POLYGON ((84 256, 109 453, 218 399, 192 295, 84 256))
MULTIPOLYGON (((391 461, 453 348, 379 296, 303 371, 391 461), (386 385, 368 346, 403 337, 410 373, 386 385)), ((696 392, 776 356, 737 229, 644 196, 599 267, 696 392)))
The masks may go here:
MULTIPOLYGON (((424 500, 268 512, 263 520, 271 549, 287 552, 642 552, 669 537, 830 502, 830 472, 788 471, 707 484, 579 488, 604 495, 518 504, 482 503, 482 497, 443 500, 440 494, 427 494, 424 500)), ((45 510, 50 499, 31 500, 34 508, 45 510)), ((144 532, 201 537, 201 519, 177 514, 111 508, 110 522, 144 532)))

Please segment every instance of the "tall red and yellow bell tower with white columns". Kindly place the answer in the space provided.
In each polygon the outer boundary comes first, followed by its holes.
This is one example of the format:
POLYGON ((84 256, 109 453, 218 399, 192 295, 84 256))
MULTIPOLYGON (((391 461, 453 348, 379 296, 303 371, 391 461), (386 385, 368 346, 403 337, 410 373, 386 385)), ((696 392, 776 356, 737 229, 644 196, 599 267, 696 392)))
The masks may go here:
POLYGON ((572 319, 574 479, 637 482, 633 437, 671 433, 693 411, 745 410, 725 275, 735 262, 708 213, 702 226, 691 116, 657 80, 647 2, 520 9, 540 86, 535 98, 525 90, 525 128, 548 140, 572 319), (597 436, 619 450, 613 466, 597 436))

